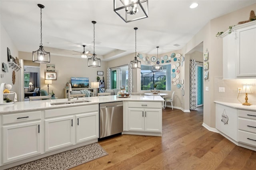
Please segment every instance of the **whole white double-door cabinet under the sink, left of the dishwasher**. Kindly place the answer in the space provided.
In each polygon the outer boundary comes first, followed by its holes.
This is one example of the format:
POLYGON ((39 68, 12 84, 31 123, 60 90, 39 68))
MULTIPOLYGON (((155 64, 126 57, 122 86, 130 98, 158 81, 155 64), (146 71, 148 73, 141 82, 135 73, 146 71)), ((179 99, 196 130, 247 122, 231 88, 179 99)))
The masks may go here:
POLYGON ((98 104, 45 110, 45 152, 98 139, 98 104))

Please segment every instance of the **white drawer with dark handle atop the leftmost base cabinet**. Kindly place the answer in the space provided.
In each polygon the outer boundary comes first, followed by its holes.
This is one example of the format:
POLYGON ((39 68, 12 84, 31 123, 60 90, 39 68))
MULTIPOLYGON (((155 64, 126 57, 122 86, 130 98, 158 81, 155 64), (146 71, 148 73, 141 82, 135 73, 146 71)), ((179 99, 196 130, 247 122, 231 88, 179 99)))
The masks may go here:
POLYGON ((41 111, 36 112, 24 112, 3 115, 3 124, 26 122, 30 120, 40 120, 41 111))

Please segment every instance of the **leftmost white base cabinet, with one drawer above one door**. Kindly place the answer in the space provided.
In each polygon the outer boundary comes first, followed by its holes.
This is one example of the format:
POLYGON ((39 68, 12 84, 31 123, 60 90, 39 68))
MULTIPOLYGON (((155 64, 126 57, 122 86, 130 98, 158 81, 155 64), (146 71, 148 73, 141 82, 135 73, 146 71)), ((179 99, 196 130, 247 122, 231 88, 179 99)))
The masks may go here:
POLYGON ((2 163, 41 154, 41 112, 2 115, 2 163))

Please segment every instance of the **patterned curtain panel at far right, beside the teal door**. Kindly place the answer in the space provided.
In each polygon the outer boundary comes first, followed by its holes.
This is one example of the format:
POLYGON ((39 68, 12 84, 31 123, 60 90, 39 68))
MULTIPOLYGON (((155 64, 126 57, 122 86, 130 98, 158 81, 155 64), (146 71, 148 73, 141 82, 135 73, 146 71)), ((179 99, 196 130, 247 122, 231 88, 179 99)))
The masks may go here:
POLYGON ((196 109, 196 61, 190 60, 190 110, 196 109))

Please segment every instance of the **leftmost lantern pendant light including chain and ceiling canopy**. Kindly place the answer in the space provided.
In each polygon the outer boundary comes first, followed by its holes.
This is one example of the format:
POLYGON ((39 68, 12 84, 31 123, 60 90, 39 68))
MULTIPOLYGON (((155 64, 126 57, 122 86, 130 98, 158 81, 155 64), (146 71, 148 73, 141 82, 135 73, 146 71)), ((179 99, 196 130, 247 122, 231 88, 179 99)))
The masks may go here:
POLYGON ((50 52, 46 52, 44 50, 43 44, 42 44, 42 8, 44 6, 42 4, 37 4, 37 6, 41 9, 41 43, 39 46, 39 49, 37 51, 32 52, 32 61, 33 62, 39 62, 39 63, 49 63, 50 62, 50 52))

